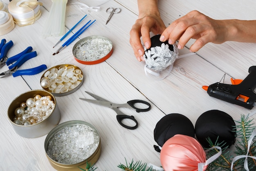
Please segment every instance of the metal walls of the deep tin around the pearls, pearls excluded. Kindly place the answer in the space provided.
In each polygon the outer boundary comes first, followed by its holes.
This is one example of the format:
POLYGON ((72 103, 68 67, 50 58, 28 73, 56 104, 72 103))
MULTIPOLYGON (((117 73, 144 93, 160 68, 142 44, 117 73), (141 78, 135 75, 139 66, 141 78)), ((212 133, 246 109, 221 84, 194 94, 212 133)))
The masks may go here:
POLYGON ((40 136, 44 136, 45 134, 48 134, 56 125, 58 125, 58 122, 61 119, 61 112, 58 108, 58 104, 56 102, 55 97, 51 93, 45 90, 31 90, 23 94, 20 94, 9 105, 7 114, 8 114, 8 119, 11 122, 11 125, 13 126, 13 129, 15 130, 15 132, 20 136, 23 136, 26 138, 36 138, 36 137, 40 137, 40 136), (52 101, 54 101, 55 103, 53 112, 43 121, 33 125, 25 126, 25 125, 18 125, 14 123, 13 118, 15 116, 16 108, 20 107, 20 104, 23 102, 26 102, 27 99, 32 98, 38 94, 40 96, 52 97, 52 101))

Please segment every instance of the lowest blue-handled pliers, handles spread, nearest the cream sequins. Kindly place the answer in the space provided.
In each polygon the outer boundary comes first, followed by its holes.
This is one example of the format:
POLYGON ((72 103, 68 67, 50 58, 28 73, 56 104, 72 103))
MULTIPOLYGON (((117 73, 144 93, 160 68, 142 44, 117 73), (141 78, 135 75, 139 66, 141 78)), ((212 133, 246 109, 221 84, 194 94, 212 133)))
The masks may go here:
POLYGON ((0 74, 0 78, 5 78, 5 77, 8 77, 10 75, 12 75, 13 77, 17 77, 17 76, 20 76, 20 75, 35 75, 35 74, 38 74, 40 72, 42 72, 43 70, 45 70, 47 68, 47 66, 45 64, 43 65, 40 65, 38 67, 35 67, 35 68, 30 68, 30 69, 25 69, 25 70, 18 70, 18 68, 24 64, 27 60, 33 58, 33 57, 36 57, 37 56, 37 53, 36 51, 34 52, 29 52, 29 53, 25 53, 22 55, 22 53, 19 53, 13 57, 10 57, 6 63, 7 65, 8 64, 11 64, 13 61, 16 61, 14 64, 12 64, 11 66, 9 66, 9 70, 5 71, 5 72, 2 72, 0 74))

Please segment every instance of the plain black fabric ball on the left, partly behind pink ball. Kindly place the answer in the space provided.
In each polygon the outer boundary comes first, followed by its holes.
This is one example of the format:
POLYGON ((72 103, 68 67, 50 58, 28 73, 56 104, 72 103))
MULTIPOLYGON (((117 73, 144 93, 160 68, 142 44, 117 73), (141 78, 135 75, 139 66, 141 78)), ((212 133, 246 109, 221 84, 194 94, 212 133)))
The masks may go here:
MULTIPOLYGON (((192 122, 182 114, 168 114, 161 118, 154 129, 154 139, 162 147, 164 142, 176 134, 195 137, 195 129, 192 122)), ((154 145, 155 150, 160 152, 158 146, 154 145)))

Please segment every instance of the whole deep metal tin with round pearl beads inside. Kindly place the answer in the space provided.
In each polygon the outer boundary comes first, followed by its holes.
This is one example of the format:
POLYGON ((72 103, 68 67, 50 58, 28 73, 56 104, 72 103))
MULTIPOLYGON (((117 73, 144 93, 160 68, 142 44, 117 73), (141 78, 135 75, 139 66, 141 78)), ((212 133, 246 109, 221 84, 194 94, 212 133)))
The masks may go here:
POLYGON ((45 90, 20 94, 9 105, 7 114, 15 132, 25 138, 48 134, 61 118, 55 97, 45 90))

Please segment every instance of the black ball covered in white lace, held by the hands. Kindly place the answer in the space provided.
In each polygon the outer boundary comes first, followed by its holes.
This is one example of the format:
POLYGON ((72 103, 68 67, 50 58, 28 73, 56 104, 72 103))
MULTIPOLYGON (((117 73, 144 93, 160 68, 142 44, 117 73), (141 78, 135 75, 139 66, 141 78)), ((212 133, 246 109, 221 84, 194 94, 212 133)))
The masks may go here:
POLYGON ((144 59, 147 68, 155 71, 164 70, 177 59, 178 48, 176 44, 168 44, 168 41, 161 42, 161 35, 151 37, 151 47, 145 50, 144 59))

